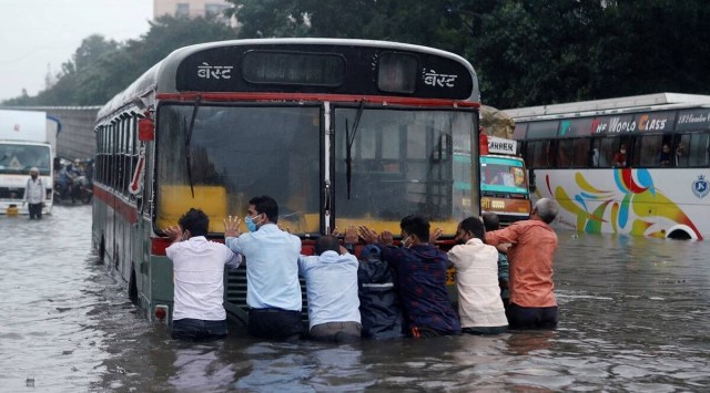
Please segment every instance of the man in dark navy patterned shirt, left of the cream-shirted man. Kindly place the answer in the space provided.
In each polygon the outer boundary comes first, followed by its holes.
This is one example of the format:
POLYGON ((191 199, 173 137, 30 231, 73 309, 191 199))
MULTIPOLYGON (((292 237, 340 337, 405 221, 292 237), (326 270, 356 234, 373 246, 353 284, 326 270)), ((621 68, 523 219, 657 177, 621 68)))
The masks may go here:
POLYGON ((392 234, 379 235, 359 227, 367 244, 377 244, 382 259, 397 271, 408 333, 414 338, 460 334, 462 325, 448 300, 446 252, 429 244, 429 221, 422 216, 407 216, 399 223, 402 247, 392 246, 392 234))

